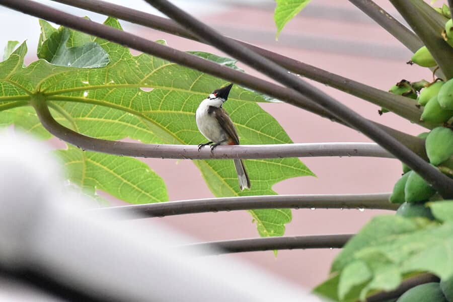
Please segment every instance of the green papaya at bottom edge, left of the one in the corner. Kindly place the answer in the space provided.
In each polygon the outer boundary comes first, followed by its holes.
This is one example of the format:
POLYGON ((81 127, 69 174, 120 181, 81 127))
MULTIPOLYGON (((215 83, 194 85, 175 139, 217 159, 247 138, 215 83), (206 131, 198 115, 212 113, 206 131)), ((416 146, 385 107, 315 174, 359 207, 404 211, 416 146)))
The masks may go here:
POLYGON ((448 302, 438 282, 420 284, 403 293, 397 302, 448 302))

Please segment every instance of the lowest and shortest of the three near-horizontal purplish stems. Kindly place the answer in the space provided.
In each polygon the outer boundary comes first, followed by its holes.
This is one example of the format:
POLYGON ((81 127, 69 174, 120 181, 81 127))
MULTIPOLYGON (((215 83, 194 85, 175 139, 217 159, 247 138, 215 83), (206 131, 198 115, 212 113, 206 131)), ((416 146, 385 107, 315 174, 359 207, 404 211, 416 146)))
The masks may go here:
POLYGON ((184 252, 197 252, 201 255, 229 253, 293 250, 293 249, 341 249, 354 234, 285 236, 250 238, 238 240, 212 241, 176 247, 184 252))

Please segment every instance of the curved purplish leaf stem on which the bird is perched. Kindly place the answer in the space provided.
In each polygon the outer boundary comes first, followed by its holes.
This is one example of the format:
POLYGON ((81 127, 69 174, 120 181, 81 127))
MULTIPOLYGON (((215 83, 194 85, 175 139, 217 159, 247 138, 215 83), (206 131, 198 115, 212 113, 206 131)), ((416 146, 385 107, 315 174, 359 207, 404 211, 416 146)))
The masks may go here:
POLYGON ((144 144, 86 136, 59 124, 50 114, 44 100, 32 100, 39 120, 47 131, 56 137, 84 150, 107 154, 162 159, 268 159, 288 157, 382 157, 394 158, 375 143, 297 143, 271 145, 218 146, 198 151, 195 145, 144 144))

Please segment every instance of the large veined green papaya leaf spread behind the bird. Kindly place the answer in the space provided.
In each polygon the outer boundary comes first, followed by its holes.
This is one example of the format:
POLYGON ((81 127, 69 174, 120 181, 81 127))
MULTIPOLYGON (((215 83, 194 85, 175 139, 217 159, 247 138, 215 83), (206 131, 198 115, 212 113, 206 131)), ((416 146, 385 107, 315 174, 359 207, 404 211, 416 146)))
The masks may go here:
MULTIPOLYGON (((121 29, 113 18, 108 18, 105 24, 121 29)), ((14 89, 11 89, 10 97, 21 98, 24 102, 29 95, 39 92, 59 122, 89 136, 106 139, 130 137, 144 143, 199 144, 205 141, 195 123, 196 108, 209 93, 229 83, 147 54, 133 56, 129 49, 100 38, 87 37, 61 27, 53 31, 45 22, 41 22, 41 26, 41 53, 45 54, 46 49, 52 47, 71 49, 84 43, 96 43, 108 54, 110 63, 102 68, 75 68, 39 59, 24 68, 26 45, 23 43, 8 60, 0 63, 0 85, 14 89)), ((229 58, 215 55, 209 55, 209 58, 225 64, 230 62, 228 64, 235 68, 229 58)), ((0 94, 0 110, 4 97, 6 95, 0 94)), ((255 103, 264 101, 262 95, 239 86, 233 87, 224 108, 238 128, 241 143, 290 143, 278 122, 255 103)), ((5 99, 4 102, 8 109, 23 105, 14 99, 5 99)), ((10 110, 0 112, 0 122, 7 120, 8 114, 10 110)), ((68 153, 72 157, 75 151, 69 149, 68 153)), ((104 163, 106 157, 100 154, 87 158, 86 154, 90 153, 77 156, 78 164, 71 167, 72 175, 80 175, 78 169, 89 164, 94 167, 95 164, 89 161, 96 159, 97 163, 104 163)), ((247 160, 245 165, 252 189, 240 191, 233 161, 196 161, 195 164, 218 197, 275 194, 272 186, 279 181, 314 175, 298 159, 247 160)), ((108 170, 107 167, 103 171, 107 173, 108 170)), ((80 177, 72 180, 86 184, 80 177)), ((108 193, 128 202, 145 202, 137 200, 135 193, 128 196, 122 192, 121 195, 115 188, 102 185, 100 180, 90 182, 90 186, 110 190, 108 193)), ((148 199, 147 202, 153 202, 148 199)), ((291 220, 289 209, 252 210, 250 213, 261 236, 283 235, 285 223, 291 220)))

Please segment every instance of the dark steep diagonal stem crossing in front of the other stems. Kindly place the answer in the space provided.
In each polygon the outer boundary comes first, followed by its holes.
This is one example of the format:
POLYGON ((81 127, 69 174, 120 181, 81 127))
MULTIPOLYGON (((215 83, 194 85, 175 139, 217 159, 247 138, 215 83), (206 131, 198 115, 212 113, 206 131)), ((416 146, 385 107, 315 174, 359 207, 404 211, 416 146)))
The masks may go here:
MULTIPOLYGON (((212 28, 193 18, 189 14, 172 5, 167 0, 146 0, 147 3, 157 8, 176 22, 184 24, 192 33, 203 40, 210 41, 212 45, 225 53, 238 58, 252 68, 272 77, 275 81, 288 86, 309 99, 317 102, 338 119, 358 129, 363 134, 386 148, 390 153, 408 165, 412 170, 431 184, 444 198, 453 198, 453 180, 443 175, 423 159, 414 154, 398 140, 376 127, 373 123, 363 118, 358 113, 339 103, 335 99, 321 93, 305 81, 288 74, 285 69, 274 62, 260 56, 247 47, 224 38, 212 28)), ((298 106, 297 102, 292 103, 298 106)))

